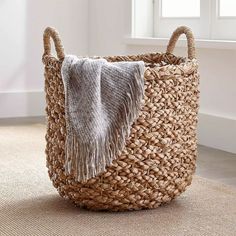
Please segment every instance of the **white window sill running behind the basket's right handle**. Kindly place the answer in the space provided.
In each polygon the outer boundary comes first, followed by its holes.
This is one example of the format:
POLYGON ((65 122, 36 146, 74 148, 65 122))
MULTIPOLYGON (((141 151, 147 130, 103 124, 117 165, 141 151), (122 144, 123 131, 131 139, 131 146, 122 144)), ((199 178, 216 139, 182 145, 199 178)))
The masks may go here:
MULTIPOLYGON (((142 45, 142 46, 167 46, 169 39, 167 38, 135 38, 127 37, 124 39, 126 45, 142 45)), ((186 39, 179 39, 176 47, 186 47, 186 39)), ((196 39, 196 48, 213 48, 236 50, 236 41, 229 40, 207 40, 196 39)))

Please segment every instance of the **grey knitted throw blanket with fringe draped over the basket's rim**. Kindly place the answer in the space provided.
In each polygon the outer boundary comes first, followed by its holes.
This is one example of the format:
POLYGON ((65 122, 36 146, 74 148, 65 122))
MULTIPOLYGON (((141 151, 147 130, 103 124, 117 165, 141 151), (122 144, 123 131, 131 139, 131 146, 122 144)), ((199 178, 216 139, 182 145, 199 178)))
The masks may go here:
POLYGON ((138 117, 144 94, 144 63, 66 56, 65 172, 84 182, 119 155, 138 117))

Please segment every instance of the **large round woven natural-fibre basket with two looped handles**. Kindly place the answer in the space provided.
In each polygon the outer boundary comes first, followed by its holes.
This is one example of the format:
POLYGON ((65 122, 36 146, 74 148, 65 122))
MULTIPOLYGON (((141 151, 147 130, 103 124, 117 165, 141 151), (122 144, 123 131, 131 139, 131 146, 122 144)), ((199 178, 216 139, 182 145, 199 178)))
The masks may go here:
POLYGON ((181 26, 173 33, 166 53, 104 57, 110 62, 145 62, 145 104, 122 154, 106 172, 80 183, 64 171, 65 97, 61 78, 64 49, 58 33, 44 32, 47 113, 46 156, 50 179, 60 195, 93 210, 156 208, 190 185, 197 155, 196 126, 199 74, 194 38, 181 26), (181 34, 188 58, 172 54, 181 34), (51 55, 50 38, 57 57, 51 55))

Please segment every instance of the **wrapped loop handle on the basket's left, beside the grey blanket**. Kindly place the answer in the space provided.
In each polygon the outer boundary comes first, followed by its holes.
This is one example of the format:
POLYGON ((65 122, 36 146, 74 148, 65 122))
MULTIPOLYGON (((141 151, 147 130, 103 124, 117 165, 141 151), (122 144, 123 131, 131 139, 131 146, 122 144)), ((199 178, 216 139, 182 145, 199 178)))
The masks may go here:
POLYGON ((43 34, 44 55, 51 55, 50 38, 52 38, 54 41, 58 59, 63 60, 65 58, 65 53, 64 53, 64 48, 61 43, 60 36, 58 32, 51 27, 47 27, 44 30, 44 34, 43 34))

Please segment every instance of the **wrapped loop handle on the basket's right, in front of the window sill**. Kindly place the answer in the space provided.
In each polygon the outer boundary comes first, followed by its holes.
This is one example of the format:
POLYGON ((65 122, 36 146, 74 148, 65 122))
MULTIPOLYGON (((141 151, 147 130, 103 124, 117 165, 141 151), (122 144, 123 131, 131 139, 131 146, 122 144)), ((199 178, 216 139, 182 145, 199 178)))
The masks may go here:
POLYGON ((181 34, 185 34, 186 38, 187 38, 188 58, 191 59, 191 60, 196 58, 194 36, 193 36, 193 33, 192 33, 191 29, 186 27, 186 26, 180 26, 173 32, 173 34, 170 38, 170 41, 168 43, 166 52, 167 53, 172 53, 173 52, 173 50, 175 48, 175 44, 178 41, 179 36, 181 34))

